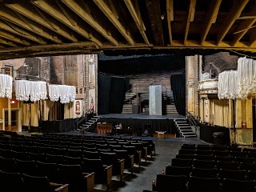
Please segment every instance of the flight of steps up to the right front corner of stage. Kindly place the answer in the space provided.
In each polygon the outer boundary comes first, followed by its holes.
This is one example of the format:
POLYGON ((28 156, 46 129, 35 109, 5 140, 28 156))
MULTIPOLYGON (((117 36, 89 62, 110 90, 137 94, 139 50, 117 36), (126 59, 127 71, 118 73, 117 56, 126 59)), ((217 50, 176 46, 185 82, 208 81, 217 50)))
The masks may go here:
POLYGON ((180 137, 182 138, 196 138, 196 134, 191 129, 190 124, 186 121, 186 118, 174 119, 174 123, 178 128, 180 137))

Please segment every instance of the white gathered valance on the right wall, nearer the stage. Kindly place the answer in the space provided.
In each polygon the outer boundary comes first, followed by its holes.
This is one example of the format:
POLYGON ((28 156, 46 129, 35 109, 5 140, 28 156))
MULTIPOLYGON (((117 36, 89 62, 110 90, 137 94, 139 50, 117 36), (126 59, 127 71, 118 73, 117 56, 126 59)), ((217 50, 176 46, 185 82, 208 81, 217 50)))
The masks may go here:
POLYGON ((226 70, 218 74, 218 98, 238 98, 238 71, 226 70))

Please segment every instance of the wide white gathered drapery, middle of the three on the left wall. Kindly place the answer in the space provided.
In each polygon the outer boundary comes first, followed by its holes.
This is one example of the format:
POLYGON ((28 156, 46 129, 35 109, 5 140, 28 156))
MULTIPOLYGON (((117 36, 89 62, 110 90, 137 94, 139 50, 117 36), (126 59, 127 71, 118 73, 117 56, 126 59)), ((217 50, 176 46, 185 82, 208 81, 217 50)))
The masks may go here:
POLYGON ((15 94, 18 101, 36 102, 47 98, 46 82, 15 81, 15 94))

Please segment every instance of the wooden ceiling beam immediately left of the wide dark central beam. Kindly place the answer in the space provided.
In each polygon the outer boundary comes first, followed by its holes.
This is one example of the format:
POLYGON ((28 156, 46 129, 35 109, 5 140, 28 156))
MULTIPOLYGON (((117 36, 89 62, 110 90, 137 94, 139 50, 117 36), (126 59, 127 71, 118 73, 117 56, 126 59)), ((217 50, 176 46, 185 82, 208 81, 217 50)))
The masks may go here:
POLYGON ((136 26, 138 27, 139 32, 142 34, 142 38, 144 39, 144 41, 146 42, 147 45, 150 45, 150 42, 147 39, 146 33, 145 33, 146 28, 142 21, 142 17, 140 16, 141 13, 139 12, 139 10, 137 10, 137 11, 135 10, 134 5, 131 2, 131 0, 124 0, 124 1, 126 3, 128 10, 130 11, 132 18, 134 19, 134 22, 136 23, 136 26))

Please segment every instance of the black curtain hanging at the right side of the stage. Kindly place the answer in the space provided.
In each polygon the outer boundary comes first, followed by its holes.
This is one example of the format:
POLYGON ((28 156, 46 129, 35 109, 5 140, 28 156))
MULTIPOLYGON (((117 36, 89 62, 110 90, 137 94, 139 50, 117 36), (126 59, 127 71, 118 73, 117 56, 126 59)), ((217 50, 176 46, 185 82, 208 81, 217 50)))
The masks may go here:
POLYGON ((178 114, 186 115, 186 71, 182 74, 172 74, 170 86, 178 114))

